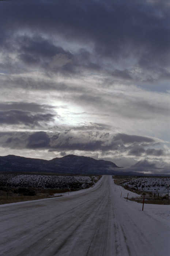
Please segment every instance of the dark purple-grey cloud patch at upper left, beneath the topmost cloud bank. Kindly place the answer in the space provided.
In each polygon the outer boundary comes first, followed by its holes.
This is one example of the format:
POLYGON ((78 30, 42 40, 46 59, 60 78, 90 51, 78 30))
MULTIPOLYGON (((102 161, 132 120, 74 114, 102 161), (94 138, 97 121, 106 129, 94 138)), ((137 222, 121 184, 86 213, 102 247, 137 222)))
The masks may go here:
MULTIPOLYGON (((8 40, 10 39, 10 36, 8 40)), ((19 35, 11 38, 12 48, 6 49, 7 52, 15 52, 17 57, 15 62, 18 69, 24 72, 27 68, 37 67, 42 69, 48 75, 48 72, 60 72, 64 75, 79 74, 86 70, 100 71, 101 67, 98 63, 90 60, 90 53, 86 49, 79 49, 72 54, 68 50, 64 50, 61 46, 53 44, 50 38, 45 39, 42 36, 19 35), (19 67, 19 62, 26 66, 19 67)), ((16 72, 16 67, 11 67, 12 60, 9 56, 4 58, 4 63, 0 63, 1 68, 7 68, 12 72, 16 72)), ((15 65, 16 65, 15 64, 15 65)))

